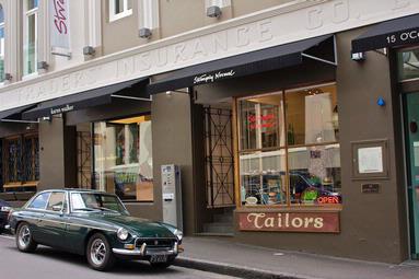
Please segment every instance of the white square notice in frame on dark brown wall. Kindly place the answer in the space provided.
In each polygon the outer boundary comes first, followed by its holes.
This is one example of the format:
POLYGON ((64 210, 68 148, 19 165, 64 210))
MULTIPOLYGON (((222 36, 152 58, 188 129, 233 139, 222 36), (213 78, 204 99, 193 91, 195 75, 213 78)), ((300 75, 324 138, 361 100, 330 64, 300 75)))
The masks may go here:
POLYGON ((383 173, 383 148, 360 148, 358 149, 358 172, 360 174, 383 173))

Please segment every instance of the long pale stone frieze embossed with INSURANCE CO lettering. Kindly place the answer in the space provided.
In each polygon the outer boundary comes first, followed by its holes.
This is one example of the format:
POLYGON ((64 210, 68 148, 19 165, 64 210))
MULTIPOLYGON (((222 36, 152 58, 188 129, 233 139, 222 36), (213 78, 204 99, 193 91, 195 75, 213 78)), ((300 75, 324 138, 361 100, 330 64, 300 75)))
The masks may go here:
POLYGON ((418 12, 419 0, 295 0, 3 85, 0 111, 418 12))

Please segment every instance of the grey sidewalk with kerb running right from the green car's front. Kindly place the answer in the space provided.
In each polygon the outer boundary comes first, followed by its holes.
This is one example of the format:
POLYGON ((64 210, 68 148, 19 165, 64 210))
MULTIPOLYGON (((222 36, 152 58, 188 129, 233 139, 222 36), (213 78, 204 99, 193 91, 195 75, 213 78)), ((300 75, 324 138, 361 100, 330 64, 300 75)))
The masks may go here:
POLYGON ((419 279, 419 264, 386 265, 207 237, 185 237, 176 265, 243 278, 419 279))

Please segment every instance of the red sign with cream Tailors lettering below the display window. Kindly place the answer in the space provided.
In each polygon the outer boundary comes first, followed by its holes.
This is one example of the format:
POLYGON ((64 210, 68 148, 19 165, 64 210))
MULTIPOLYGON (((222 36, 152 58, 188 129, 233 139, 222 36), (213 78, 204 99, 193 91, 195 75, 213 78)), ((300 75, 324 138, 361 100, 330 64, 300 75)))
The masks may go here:
POLYGON ((241 231, 338 233, 338 212, 240 212, 241 231))

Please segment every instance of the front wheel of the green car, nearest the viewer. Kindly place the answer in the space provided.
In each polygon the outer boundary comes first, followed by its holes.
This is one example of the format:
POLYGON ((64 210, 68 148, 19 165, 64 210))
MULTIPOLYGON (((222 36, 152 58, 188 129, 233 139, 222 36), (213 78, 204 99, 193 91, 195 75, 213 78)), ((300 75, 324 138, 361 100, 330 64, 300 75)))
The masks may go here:
POLYGON ((109 242, 102 233, 95 233, 90 237, 85 256, 89 265, 98 271, 109 270, 115 264, 109 242))

